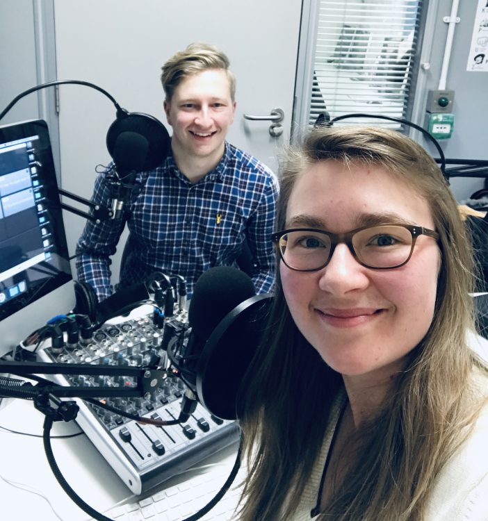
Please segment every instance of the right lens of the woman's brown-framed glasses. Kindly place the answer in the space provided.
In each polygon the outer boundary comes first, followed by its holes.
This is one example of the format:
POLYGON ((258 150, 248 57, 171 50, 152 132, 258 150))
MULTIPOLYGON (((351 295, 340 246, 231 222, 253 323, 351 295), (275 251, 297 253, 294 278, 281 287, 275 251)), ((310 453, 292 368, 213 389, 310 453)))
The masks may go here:
POLYGON ((359 260, 371 267, 395 267, 412 251, 412 233, 403 226, 373 226, 352 235, 359 260))

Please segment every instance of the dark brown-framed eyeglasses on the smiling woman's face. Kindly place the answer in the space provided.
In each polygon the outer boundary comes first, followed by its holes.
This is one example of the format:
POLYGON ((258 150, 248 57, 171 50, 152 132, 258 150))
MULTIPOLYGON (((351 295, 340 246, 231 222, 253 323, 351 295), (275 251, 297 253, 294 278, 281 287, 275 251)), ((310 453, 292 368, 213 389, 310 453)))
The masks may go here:
POLYGON ((439 240, 439 233, 410 224, 364 226, 348 233, 330 233, 314 228, 277 231, 271 236, 282 261, 291 270, 315 272, 327 266, 336 245, 344 243, 356 261, 375 270, 406 264, 419 235, 439 240))

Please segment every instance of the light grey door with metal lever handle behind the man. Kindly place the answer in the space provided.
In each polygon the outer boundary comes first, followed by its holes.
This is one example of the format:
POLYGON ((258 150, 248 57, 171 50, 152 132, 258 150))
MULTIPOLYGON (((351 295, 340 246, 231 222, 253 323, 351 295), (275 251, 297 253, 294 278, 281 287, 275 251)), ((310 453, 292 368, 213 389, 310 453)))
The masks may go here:
MULTIPOLYGON (((161 65, 190 42, 220 47, 237 78, 228 140, 277 170, 291 128, 302 0, 55 0, 54 6, 58 79, 95 83, 130 112, 164 124, 161 65), (275 108, 284 113, 278 137, 270 135, 271 122, 244 117, 275 108)), ((96 90, 76 85, 60 85, 59 106, 62 185, 89 197, 96 165, 111 159, 105 137, 115 108, 96 90)), ((74 251, 84 220, 65 220, 74 251)))

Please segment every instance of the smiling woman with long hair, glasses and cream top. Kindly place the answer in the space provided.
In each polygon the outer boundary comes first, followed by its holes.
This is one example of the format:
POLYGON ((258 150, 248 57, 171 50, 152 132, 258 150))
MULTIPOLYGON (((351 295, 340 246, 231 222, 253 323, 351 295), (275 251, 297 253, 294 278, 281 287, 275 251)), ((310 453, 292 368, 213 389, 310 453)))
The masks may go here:
POLYGON ((277 219, 239 519, 488 520, 473 261, 434 160, 396 131, 316 130, 288 157, 277 219))

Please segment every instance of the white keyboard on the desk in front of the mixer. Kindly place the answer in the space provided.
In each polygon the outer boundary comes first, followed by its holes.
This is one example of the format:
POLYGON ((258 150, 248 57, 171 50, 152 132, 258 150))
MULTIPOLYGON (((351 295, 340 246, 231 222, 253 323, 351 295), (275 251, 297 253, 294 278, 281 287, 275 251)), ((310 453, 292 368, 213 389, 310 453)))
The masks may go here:
MULTIPOLYGON (((179 479, 170 480, 170 486, 164 486, 150 495, 131 496, 124 504, 119 504, 104 515, 114 521, 182 521, 197 513, 218 493, 225 483, 235 453, 222 463, 213 463, 200 470, 190 470, 181 474, 179 479), (178 481, 174 483, 174 481, 178 481)), ((224 497, 202 521, 235 521, 236 507, 241 495, 241 484, 245 469, 241 468, 224 497)))

